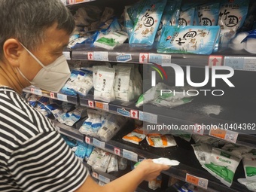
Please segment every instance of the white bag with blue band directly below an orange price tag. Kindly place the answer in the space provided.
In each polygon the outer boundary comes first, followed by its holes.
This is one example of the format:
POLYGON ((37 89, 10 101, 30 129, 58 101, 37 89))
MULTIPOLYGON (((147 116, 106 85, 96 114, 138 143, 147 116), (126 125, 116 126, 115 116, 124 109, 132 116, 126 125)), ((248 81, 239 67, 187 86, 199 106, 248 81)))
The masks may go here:
POLYGON ((103 111, 97 111, 93 109, 87 109, 88 118, 84 120, 84 123, 79 128, 79 131, 82 134, 88 136, 98 136, 98 131, 105 123, 105 116, 108 115, 103 111))

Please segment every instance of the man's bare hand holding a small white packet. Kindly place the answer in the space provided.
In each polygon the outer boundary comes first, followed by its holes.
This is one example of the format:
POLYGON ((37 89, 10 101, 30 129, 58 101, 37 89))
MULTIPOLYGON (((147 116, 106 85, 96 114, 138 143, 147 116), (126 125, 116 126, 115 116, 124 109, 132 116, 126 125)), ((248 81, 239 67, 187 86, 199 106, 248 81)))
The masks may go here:
POLYGON ((145 181, 152 181, 160 175, 160 172, 163 170, 169 169, 170 166, 154 163, 152 160, 143 160, 136 166, 136 169, 142 170, 145 181))

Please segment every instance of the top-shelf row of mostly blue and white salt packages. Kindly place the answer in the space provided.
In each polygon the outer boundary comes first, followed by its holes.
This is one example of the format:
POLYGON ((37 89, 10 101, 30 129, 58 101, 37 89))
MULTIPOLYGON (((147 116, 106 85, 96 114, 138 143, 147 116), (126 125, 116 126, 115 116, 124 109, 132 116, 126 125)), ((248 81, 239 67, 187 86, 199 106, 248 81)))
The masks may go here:
POLYGON ((75 13, 77 28, 68 47, 113 50, 128 42, 158 53, 211 54, 228 47, 256 53, 255 10, 249 0, 140 0, 117 17, 113 8, 84 5, 75 13))

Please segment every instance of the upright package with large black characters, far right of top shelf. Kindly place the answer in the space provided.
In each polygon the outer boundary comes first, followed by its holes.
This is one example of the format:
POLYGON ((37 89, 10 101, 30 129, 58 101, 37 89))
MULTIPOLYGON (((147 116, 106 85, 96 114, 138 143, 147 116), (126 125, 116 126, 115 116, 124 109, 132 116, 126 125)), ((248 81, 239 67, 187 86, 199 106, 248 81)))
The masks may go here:
POLYGON ((218 26, 221 26, 222 47, 227 47, 231 38, 236 35, 245 21, 248 13, 248 0, 223 1, 220 3, 218 26))

